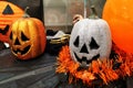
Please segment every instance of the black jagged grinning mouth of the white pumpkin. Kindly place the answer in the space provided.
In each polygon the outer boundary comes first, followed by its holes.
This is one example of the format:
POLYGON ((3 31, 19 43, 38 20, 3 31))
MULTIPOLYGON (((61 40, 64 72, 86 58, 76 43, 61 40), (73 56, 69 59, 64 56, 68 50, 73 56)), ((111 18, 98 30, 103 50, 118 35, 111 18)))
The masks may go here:
POLYGON ((80 58, 75 53, 74 53, 75 58, 78 59, 78 62, 82 63, 82 62, 86 62, 86 64, 92 63, 92 61, 96 61, 100 57, 100 54, 95 55, 92 57, 92 59, 88 59, 86 57, 82 56, 82 58, 80 58))

